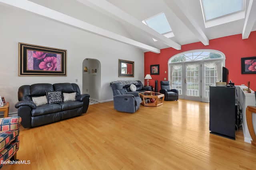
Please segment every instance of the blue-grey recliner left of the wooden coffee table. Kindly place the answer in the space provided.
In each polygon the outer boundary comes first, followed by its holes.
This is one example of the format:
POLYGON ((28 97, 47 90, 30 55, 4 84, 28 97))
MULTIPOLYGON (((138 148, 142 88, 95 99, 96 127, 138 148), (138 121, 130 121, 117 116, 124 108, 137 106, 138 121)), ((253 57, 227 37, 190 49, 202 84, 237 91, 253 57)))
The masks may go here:
POLYGON ((114 95, 114 109, 134 113, 142 102, 138 92, 126 92, 120 82, 111 85, 114 95))

